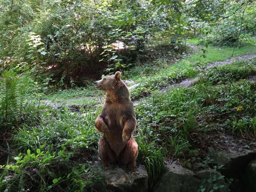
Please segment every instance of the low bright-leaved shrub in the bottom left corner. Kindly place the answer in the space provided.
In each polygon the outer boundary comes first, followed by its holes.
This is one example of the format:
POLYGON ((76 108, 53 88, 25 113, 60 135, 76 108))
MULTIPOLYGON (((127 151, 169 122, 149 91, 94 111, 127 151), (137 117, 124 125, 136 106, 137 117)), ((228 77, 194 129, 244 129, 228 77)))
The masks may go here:
POLYGON ((26 154, 20 153, 14 157, 15 163, 0 165, 0 169, 6 170, 0 176, 0 190, 83 191, 91 183, 82 180, 89 168, 85 169, 85 164, 79 165, 70 161, 71 153, 65 148, 53 153, 49 150, 43 151, 48 147, 41 145, 34 153, 28 149, 26 154))

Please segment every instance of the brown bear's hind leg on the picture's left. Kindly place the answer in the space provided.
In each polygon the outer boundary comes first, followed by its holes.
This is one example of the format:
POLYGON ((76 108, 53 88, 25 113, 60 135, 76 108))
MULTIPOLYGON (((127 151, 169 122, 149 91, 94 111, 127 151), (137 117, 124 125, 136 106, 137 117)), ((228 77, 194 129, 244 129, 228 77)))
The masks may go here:
POLYGON ((102 160, 103 169, 109 169, 110 163, 116 162, 116 155, 104 138, 99 139, 99 157, 102 160))

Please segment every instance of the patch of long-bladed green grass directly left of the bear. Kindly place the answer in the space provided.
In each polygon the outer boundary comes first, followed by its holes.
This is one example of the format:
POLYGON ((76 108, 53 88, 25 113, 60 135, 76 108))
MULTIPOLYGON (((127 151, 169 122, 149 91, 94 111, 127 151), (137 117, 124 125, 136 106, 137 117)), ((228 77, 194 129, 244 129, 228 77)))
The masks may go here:
POLYGON ((98 110, 83 114, 67 110, 47 110, 37 126, 23 124, 13 137, 17 148, 37 149, 40 145, 70 145, 70 147, 96 147, 99 135, 94 128, 98 110))

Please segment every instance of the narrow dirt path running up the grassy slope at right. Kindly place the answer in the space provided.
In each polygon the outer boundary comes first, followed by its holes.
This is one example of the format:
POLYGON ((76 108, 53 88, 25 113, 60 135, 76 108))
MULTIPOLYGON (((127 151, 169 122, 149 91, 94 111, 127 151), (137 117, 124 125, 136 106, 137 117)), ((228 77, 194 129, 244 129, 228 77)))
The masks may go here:
MULTIPOLYGON (((247 59, 251 59, 253 57, 256 57, 256 54, 247 54, 247 55, 240 55, 240 56, 233 56, 232 58, 226 59, 224 61, 215 61, 213 63, 210 63, 209 65, 207 65, 205 67, 205 70, 214 68, 214 67, 218 67, 218 66, 222 66, 222 65, 228 65, 231 64, 235 61, 241 61, 241 60, 247 60, 247 59)), ((202 73, 200 73, 199 75, 201 75, 202 73)), ((199 75, 195 78, 185 78, 183 79, 180 83, 175 83, 175 84, 169 84, 166 87, 160 89, 158 91, 158 93, 164 93, 166 92, 168 89, 172 88, 172 87, 191 87, 195 84, 195 82, 199 79, 199 75)), ((256 77, 252 76, 249 78, 249 81, 255 81, 256 77)), ((129 87, 130 89, 130 87, 129 87)), ((139 100, 134 100, 134 106, 139 105, 139 100)))

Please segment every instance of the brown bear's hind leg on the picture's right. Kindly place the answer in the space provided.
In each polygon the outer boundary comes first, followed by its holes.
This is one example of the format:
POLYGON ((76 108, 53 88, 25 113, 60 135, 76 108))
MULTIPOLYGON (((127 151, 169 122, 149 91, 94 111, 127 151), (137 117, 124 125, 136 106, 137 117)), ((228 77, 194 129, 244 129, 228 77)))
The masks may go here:
POLYGON ((138 156, 138 144, 130 138, 120 155, 120 161, 127 165, 131 171, 136 171, 136 159, 138 156))

